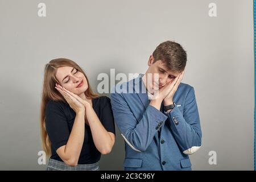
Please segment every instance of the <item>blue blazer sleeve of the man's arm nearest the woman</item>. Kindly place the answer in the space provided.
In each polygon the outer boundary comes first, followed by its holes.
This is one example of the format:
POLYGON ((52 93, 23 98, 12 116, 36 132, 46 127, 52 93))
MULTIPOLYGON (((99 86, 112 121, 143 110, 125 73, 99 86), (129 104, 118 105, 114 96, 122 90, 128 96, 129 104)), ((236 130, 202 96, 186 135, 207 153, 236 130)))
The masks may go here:
POLYGON ((112 93, 111 103, 115 123, 125 142, 137 152, 147 150, 154 135, 168 117, 149 105, 141 120, 137 121, 122 93, 112 93))

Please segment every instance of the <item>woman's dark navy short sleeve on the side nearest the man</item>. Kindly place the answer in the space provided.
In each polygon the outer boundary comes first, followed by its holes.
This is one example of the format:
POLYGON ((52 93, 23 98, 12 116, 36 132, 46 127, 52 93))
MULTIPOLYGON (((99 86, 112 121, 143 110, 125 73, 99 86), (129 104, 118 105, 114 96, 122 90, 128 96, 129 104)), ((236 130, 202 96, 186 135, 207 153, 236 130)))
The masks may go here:
POLYGON ((101 113, 101 123, 108 132, 115 134, 115 124, 110 98, 104 97, 104 107, 101 113))

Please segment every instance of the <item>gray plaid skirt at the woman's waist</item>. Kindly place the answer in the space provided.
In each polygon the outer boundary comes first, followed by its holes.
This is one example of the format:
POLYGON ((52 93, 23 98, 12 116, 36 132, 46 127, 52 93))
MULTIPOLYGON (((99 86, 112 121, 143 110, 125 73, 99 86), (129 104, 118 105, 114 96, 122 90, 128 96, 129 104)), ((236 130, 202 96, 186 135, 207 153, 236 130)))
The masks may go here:
POLYGON ((68 166, 59 160, 49 159, 47 171, 100 171, 100 161, 94 164, 77 164, 77 166, 68 166))

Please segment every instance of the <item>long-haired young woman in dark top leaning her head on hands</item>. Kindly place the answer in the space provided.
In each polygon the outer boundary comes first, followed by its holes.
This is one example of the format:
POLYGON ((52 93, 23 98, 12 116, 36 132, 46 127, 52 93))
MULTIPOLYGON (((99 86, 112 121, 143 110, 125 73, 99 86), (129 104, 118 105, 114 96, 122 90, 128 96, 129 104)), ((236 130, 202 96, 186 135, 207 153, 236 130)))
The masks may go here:
POLYGON ((43 148, 51 155, 47 170, 99 170, 101 154, 115 142, 110 99, 92 92, 72 60, 46 65, 40 120, 43 148))

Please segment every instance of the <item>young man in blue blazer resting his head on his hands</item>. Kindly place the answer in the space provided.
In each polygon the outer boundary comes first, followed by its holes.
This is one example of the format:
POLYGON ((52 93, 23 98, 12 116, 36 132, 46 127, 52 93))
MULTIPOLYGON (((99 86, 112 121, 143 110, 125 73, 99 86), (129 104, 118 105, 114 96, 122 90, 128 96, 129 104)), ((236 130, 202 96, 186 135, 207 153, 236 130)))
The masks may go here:
POLYGON ((201 127, 195 91, 181 83, 186 62, 180 44, 163 42, 144 75, 112 91, 114 119, 126 142, 125 170, 191 170, 188 155, 201 147, 201 127))

